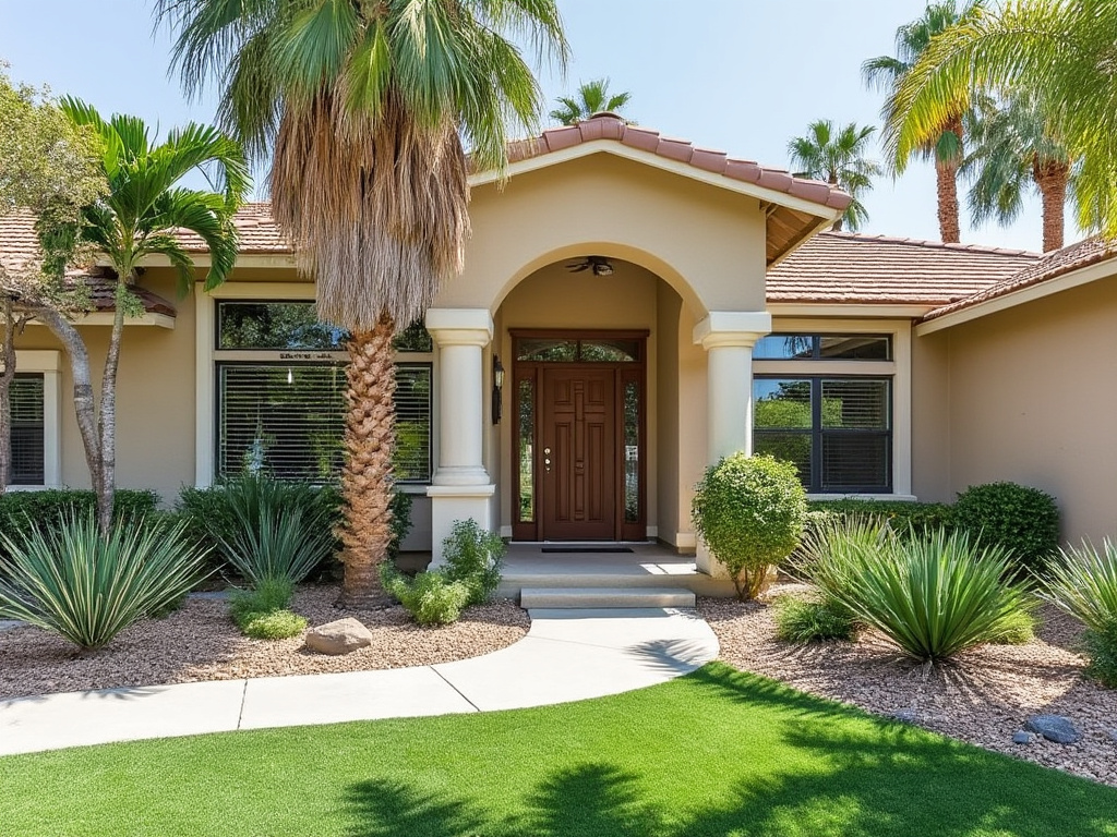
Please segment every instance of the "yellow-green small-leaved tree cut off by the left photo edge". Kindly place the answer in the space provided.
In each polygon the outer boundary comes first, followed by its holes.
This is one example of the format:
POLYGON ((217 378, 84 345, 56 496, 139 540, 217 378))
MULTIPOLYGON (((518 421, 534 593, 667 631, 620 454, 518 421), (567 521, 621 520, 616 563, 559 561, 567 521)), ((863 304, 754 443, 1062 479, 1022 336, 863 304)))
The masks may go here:
POLYGON ((16 335, 41 309, 69 312, 87 302, 57 268, 78 258, 73 227, 80 208, 106 189, 93 132, 75 126, 48 90, 12 85, 6 66, 0 61, 0 218, 31 214, 39 242, 18 262, 0 254, 0 493, 11 477, 16 335))

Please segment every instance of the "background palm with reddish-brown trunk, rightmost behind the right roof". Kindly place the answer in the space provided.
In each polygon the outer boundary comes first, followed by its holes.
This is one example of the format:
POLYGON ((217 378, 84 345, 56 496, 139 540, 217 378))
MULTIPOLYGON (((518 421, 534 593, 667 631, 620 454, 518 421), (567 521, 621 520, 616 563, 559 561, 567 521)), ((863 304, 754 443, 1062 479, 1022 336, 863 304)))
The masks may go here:
POLYGON ((973 180, 973 223, 993 218, 1011 224, 1020 217, 1024 194, 1035 190, 1043 204, 1043 252, 1060 249, 1071 160, 1033 97, 1019 93, 1003 104, 985 97, 973 108, 970 144, 962 172, 973 180))

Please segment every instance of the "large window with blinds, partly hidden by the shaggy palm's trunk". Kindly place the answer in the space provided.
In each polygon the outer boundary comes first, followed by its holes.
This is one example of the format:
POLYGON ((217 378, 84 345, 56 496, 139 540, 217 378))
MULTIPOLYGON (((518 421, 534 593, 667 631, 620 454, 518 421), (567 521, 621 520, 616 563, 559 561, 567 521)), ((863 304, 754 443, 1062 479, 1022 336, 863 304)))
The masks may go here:
MULTIPOLYGON (((317 325, 313 310, 300 301, 218 302, 216 477, 249 471, 319 483, 338 477, 345 355, 332 349, 344 335, 317 325)), ((423 336, 429 340, 413 326, 399 350, 420 354, 423 336)), ((395 378, 395 481, 430 482, 431 364, 399 360, 395 378)))

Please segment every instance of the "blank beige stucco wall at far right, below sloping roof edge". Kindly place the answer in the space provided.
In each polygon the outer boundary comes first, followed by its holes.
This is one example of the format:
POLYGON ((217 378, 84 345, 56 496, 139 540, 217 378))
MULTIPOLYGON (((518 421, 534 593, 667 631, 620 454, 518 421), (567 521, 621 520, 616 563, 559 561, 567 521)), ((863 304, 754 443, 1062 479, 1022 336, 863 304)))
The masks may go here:
POLYGON ((1067 539, 1117 535, 1117 278, 945 336, 951 491, 1034 485, 1058 499, 1067 539))

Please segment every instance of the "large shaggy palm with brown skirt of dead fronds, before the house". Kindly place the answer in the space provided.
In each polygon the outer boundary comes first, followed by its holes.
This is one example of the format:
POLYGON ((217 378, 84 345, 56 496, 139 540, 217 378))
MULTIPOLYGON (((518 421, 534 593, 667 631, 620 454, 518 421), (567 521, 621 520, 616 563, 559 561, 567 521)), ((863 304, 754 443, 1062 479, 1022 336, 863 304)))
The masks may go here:
POLYGON ((319 319, 350 333, 342 602, 367 606, 391 539, 392 336, 461 269, 464 141, 475 167, 503 169, 509 127, 538 122, 505 35, 565 64, 555 0, 160 0, 156 15, 187 92, 218 80, 223 123, 271 152, 276 220, 319 319))

